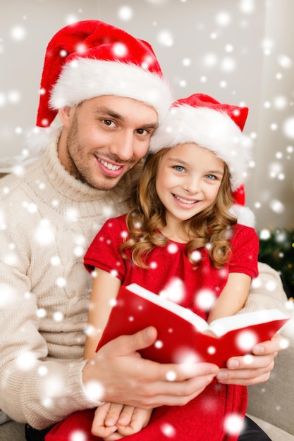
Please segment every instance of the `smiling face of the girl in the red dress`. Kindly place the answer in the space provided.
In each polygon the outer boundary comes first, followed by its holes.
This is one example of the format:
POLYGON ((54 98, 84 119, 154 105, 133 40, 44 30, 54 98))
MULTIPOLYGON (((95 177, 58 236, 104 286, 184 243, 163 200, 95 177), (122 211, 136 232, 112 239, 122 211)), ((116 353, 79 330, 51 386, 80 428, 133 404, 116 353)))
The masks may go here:
POLYGON ((178 144, 161 157, 156 190, 166 208, 166 223, 178 225, 210 206, 223 178, 224 163, 194 143, 178 144))

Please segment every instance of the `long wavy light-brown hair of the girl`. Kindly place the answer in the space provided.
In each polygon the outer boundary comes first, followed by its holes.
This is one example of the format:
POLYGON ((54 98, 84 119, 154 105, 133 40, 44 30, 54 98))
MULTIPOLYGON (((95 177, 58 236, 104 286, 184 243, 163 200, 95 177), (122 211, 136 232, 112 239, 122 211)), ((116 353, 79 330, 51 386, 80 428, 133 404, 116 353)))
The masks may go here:
MULTIPOLYGON (((121 253, 125 259, 125 249, 130 249, 131 259, 137 266, 148 268, 146 257, 154 247, 164 247, 169 241, 160 230, 166 226, 165 207, 157 195, 156 178, 159 161, 169 151, 161 149, 156 154, 149 154, 145 160, 139 182, 130 199, 131 209, 126 222, 129 238, 121 245, 121 253)), ((206 247, 209 257, 216 268, 228 262, 231 244, 231 226, 237 219, 229 213, 233 204, 228 166, 224 164, 224 173, 216 200, 207 209, 195 214, 187 221, 182 221, 183 228, 190 240, 186 246, 186 254, 195 267, 200 262, 193 259, 192 251, 206 247)))

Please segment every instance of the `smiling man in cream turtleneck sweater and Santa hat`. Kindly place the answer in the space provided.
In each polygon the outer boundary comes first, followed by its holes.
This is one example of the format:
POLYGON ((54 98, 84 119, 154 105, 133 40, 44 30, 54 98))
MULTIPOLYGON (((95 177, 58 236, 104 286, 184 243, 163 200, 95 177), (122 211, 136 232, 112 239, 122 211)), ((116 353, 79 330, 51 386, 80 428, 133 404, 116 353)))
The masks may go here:
MULTIPOLYGON (((255 348, 250 366, 236 357, 221 371, 134 356, 154 342, 154 328, 82 360, 92 285, 83 255, 106 218, 125 211, 135 165, 171 101, 149 44, 111 25, 69 25, 47 47, 37 126, 47 131, 59 113, 62 128, 39 159, 0 182, 0 408, 28 423, 27 440, 102 400, 185 404, 215 375, 243 385, 269 378, 278 337, 255 348)), ((276 290, 256 287, 248 311, 283 308, 281 281, 266 270, 264 285, 272 280, 276 290)))

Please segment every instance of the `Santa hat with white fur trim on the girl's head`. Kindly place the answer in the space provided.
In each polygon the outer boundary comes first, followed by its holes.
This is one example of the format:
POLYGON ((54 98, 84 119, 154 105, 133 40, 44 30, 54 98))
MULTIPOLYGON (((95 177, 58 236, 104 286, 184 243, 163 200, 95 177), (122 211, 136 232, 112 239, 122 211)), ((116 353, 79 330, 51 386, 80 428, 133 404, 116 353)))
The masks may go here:
POLYGON ((247 107, 221 104, 205 94, 193 94, 173 103, 169 114, 152 135, 149 151, 195 142, 214 151, 228 166, 234 205, 232 213, 238 223, 253 227, 255 217, 244 206, 244 183, 252 159, 252 142, 243 134, 247 107))

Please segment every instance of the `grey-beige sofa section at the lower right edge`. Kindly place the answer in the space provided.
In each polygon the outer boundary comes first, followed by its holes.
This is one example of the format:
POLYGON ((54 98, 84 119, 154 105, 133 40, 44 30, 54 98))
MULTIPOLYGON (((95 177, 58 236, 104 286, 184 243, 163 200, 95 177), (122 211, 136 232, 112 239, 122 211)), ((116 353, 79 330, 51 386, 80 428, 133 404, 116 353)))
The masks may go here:
POLYGON ((294 435, 294 335, 293 332, 284 335, 288 338, 289 347, 276 356, 269 380, 247 387, 247 412, 294 435))

